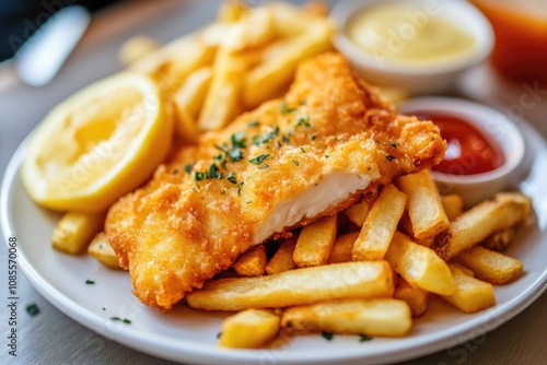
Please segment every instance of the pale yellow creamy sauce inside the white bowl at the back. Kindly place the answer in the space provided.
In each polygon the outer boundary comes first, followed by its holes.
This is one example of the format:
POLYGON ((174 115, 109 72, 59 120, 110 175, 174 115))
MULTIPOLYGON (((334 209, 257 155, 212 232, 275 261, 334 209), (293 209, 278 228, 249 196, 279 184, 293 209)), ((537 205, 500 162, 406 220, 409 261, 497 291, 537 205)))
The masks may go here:
POLYGON ((475 39, 439 16, 439 7, 404 2, 366 7, 350 19, 346 32, 363 50, 399 63, 433 64, 467 56, 475 39))

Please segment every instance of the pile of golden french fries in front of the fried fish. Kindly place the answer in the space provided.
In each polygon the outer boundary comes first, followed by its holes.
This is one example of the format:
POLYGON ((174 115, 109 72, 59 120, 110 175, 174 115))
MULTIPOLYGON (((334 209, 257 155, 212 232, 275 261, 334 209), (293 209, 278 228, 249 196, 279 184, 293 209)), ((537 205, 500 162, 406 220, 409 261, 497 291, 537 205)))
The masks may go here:
POLYGON ((526 221, 524 195, 501 192, 464 211, 427 169, 379 190, 290 238, 251 248, 189 293, 188 306, 238 311, 222 323, 226 348, 265 346, 280 331, 399 337, 431 297, 476 313, 496 304, 492 285, 521 275, 522 262, 491 248, 504 249, 510 240, 500 237, 526 221))

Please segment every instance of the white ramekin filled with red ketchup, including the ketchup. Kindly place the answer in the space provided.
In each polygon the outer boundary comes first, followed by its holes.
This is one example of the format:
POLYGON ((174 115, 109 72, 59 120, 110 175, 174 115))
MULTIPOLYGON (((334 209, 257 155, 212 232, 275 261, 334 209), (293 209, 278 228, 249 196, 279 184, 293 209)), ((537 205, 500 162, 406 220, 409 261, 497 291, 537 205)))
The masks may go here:
POLYGON ((432 120, 447 142, 444 160, 432 167, 441 193, 457 193, 467 207, 502 190, 515 189, 524 139, 505 115, 453 97, 406 101, 400 113, 432 120))

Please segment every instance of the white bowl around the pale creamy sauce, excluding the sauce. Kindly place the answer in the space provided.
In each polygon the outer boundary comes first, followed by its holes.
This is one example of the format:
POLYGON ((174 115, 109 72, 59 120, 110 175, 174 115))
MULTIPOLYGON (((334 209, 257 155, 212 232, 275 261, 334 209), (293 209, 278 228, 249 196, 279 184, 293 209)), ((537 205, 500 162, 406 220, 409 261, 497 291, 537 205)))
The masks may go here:
MULTIPOLYGON (((464 70, 477 64, 490 54, 493 45, 493 32, 490 23, 474 5, 461 0, 435 0, 434 4, 438 5, 435 12, 423 12, 423 14, 439 16, 466 32, 475 39, 473 49, 462 55, 462 57, 435 63, 410 64, 386 57, 379 58, 377 55, 357 46, 348 37, 347 26, 352 16, 366 11, 372 5, 385 5, 394 2, 401 2, 423 10, 427 9, 427 3, 430 1, 342 0, 336 3, 330 12, 330 17, 338 26, 333 43, 366 81, 379 86, 401 87, 411 94, 443 93, 454 86, 456 78, 464 70)), ((410 17, 408 24, 405 23, 405 25, 412 26, 410 17)), ((411 38, 403 40, 411 42, 411 38)))

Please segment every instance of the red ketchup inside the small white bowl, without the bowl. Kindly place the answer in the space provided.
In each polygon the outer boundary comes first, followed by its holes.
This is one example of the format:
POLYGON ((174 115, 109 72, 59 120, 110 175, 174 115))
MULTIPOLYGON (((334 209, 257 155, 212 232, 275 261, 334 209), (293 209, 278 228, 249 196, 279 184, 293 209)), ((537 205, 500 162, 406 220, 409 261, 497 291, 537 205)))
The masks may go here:
POLYGON ((475 175, 503 165, 500 148, 467 120, 438 111, 419 113, 418 118, 432 120, 449 143, 444 160, 431 169, 451 175, 475 175))

